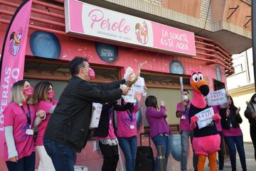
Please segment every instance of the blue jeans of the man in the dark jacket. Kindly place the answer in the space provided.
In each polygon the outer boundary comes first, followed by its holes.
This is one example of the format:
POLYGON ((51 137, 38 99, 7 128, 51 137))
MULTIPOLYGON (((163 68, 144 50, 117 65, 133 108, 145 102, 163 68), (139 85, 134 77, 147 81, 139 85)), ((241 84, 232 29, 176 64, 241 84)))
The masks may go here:
POLYGON ((55 171, 74 171, 74 150, 47 138, 43 138, 43 145, 51 160, 53 160, 55 171))

